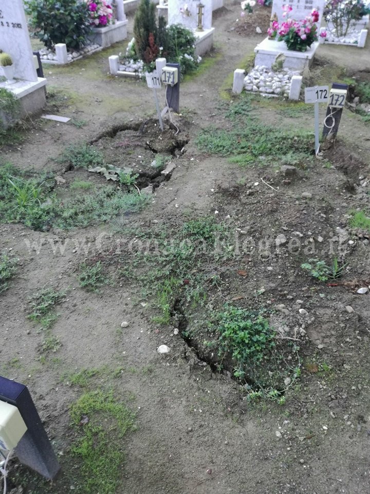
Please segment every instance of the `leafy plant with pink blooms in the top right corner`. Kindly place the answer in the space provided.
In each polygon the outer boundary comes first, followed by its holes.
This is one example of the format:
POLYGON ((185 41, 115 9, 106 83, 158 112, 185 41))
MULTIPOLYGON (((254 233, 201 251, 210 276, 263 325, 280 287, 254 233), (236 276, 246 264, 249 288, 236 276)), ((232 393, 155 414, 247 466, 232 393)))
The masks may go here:
POLYGON ((346 36, 350 25, 370 13, 363 0, 329 0, 324 10, 325 21, 331 23, 337 36, 346 36))

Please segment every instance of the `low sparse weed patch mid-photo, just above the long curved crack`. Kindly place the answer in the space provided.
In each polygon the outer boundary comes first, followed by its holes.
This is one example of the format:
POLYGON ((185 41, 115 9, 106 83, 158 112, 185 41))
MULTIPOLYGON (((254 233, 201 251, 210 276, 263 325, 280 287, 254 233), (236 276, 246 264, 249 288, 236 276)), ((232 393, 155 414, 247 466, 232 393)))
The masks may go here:
POLYGON ((232 255, 225 225, 216 223, 213 218, 189 220, 182 230, 170 237, 171 242, 168 242, 157 234, 152 245, 154 251, 151 248, 150 255, 137 252, 130 269, 126 267, 121 271, 123 276, 140 282, 143 298, 152 297, 153 306, 158 310, 153 321, 158 324, 170 323, 178 297, 192 307, 205 304, 207 284, 212 286, 215 279, 209 272, 209 257, 203 262, 207 252, 212 252, 215 260, 232 255), (216 239, 219 250, 214 249, 216 239))

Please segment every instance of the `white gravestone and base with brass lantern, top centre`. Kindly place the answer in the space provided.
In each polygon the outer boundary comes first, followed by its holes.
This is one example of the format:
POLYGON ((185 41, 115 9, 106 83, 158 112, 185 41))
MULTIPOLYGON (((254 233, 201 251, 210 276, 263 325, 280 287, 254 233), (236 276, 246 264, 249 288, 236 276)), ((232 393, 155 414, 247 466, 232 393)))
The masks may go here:
POLYGON ((168 24, 181 24, 194 32, 197 56, 207 53, 213 45, 212 10, 213 0, 171 0, 168 3, 168 24))

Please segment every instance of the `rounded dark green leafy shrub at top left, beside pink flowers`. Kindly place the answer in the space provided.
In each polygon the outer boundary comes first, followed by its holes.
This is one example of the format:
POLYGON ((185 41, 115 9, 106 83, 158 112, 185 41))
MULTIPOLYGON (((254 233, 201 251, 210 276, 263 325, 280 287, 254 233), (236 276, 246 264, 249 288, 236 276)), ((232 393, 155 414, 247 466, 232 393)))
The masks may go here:
POLYGON ((65 43, 79 49, 86 44, 91 30, 87 5, 78 0, 27 0, 30 25, 47 48, 65 43))

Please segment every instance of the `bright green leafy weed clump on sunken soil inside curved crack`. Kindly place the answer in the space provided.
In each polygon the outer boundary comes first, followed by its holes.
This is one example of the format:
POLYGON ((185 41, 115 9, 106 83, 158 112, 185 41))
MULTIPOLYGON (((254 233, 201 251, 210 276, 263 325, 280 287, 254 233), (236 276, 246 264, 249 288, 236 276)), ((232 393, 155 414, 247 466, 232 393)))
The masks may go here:
POLYGON ((265 309, 251 310, 226 304, 209 314, 204 345, 217 349, 219 369, 232 369, 249 399, 285 402, 284 393, 301 375, 300 348, 284 342, 270 326, 265 309))

